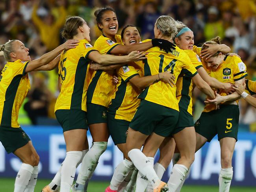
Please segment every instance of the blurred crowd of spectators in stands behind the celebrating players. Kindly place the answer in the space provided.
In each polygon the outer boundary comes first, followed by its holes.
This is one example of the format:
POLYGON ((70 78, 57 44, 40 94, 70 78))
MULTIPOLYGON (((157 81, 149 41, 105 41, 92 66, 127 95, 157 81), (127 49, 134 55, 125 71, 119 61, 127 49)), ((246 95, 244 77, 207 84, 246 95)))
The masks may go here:
MULTIPOLYGON (((60 32, 69 15, 85 19, 94 44, 101 34, 93 13, 96 7, 103 6, 115 9, 119 31, 126 24, 134 24, 142 39, 154 38, 154 23, 160 15, 170 15, 191 28, 195 45, 220 36, 222 43, 247 65, 247 78, 256 80, 256 0, 1 0, 0 44, 19 39, 30 49, 31 59, 36 59, 65 41, 60 32)), ((4 57, 0 57, 0 70, 5 63, 4 57)), ((30 74, 32 89, 20 111, 21 124, 44 124, 54 118, 57 70, 30 74)), ((204 96, 195 95, 197 118, 204 96)), ((239 107, 240 123, 256 131, 256 110, 242 99, 239 107)))

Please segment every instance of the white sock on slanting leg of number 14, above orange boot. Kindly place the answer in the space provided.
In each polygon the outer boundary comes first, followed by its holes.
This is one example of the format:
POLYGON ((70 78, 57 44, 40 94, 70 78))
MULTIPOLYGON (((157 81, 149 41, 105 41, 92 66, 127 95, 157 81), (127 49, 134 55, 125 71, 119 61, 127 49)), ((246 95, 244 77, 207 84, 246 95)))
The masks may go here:
POLYGON ((156 175, 152 164, 148 158, 141 152, 139 149, 132 149, 128 152, 128 157, 134 163, 134 166, 141 172, 142 175, 145 175, 149 182, 152 184, 153 188, 160 185, 161 180, 156 175))

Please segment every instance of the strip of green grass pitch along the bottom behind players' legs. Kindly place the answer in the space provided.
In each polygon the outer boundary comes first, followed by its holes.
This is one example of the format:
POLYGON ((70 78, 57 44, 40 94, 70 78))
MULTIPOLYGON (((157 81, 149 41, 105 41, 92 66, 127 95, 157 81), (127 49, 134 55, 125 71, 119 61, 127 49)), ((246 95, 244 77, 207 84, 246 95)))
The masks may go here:
MULTIPOLYGON (((13 192, 14 178, 0 178, 0 192, 13 192)), ((50 180, 39 179, 35 186, 35 192, 41 192, 42 188, 47 185, 50 180)), ((109 181, 110 182, 110 181, 109 181)), ((109 182, 93 182, 91 181, 88 186, 88 192, 104 192, 109 182)), ((218 192, 218 186, 186 186, 182 188, 181 192, 218 192)), ((256 187, 237 187, 231 186, 230 192, 254 192, 256 187)))

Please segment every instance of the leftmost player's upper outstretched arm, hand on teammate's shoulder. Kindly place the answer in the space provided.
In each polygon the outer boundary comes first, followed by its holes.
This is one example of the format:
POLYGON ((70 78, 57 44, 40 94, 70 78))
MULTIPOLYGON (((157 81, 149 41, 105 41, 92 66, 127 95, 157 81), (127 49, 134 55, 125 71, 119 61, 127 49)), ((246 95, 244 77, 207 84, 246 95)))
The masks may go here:
POLYGON ((44 54, 39 59, 30 61, 28 63, 28 66, 26 67, 26 73, 50 63, 50 61, 52 61, 55 57, 57 57, 63 50, 69 50, 78 46, 77 44, 78 42, 79 42, 78 40, 74 40, 74 39, 68 40, 65 43, 58 46, 57 48, 55 48, 54 50, 44 54))

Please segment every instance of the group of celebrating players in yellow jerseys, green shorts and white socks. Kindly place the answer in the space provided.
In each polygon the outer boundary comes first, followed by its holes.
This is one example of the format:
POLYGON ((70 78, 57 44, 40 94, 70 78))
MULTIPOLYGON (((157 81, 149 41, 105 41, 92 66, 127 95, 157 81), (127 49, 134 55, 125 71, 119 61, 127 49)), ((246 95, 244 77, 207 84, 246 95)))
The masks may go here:
POLYGON ((30 89, 27 73, 58 65, 60 94, 55 114, 63 128, 67 154, 42 192, 87 192, 109 135, 124 160, 105 192, 179 192, 195 151, 216 134, 221 147, 219 191, 228 192, 238 133, 238 100, 242 96, 256 105, 255 98, 244 91, 246 87, 254 94, 255 84, 245 81, 246 66, 240 57, 229 54, 230 48, 219 37, 202 47, 194 46, 193 31, 169 16, 159 17, 155 39, 144 41, 133 25, 116 35, 118 21, 111 7, 96 10, 95 17, 102 35, 94 46, 90 28, 81 17, 69 17, 62 31, 67 41, 39 59, 30 61, 28 48, 19 40, 0 46, 7 60, 0 76, 0 141, 22 161, 14 191, 33 192, 38 174, 39 156, 17 122, 30 89), (207 99, 194 127, 195 86, 207 99), (90 149, 88 127, 93 138, 90 149), (158 149, 160 159, 154 164, 158 149), (174 166, 164 183, 161 178, 171 159, 174 166))

